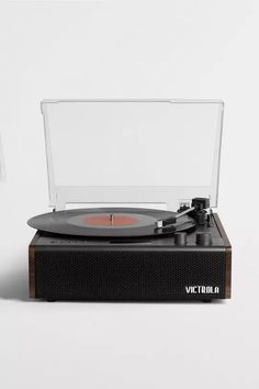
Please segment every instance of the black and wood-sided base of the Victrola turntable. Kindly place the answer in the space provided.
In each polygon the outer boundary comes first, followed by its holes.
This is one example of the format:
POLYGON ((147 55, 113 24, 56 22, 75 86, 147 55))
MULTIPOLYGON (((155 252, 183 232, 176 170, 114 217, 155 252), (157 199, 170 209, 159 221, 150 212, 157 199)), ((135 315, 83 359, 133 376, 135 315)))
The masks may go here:
POLYGON ((30 245, 30 296, 49 301, 229 298, 232 249, 217 214, 210 227, 184 234, 95 238, 37 231, 30 245))

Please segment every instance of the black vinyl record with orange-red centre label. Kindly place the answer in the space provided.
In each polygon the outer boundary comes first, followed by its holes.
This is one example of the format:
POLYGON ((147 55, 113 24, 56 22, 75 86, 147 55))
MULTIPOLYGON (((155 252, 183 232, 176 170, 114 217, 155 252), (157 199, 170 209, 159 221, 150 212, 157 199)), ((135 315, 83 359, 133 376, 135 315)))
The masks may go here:
POLYGON ((95 208, 57 211, 41 214, 29 220, 36 230, 56 234, 91 237, 136 237, 168 235, 187 231, 195 223, 187 216, 173 226, 157 229, 156 222, 174 218, 174 212, 138 208, 95 208))

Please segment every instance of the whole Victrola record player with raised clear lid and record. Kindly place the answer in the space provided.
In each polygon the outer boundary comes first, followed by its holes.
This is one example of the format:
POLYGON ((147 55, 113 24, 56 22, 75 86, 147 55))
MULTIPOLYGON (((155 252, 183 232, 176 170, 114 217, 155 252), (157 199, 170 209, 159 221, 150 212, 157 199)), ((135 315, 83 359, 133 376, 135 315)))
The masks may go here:
POLYGON ((230 298, 215 212, 218 100, 42 102, 53 212, 29 220, 30 297, 230 298))

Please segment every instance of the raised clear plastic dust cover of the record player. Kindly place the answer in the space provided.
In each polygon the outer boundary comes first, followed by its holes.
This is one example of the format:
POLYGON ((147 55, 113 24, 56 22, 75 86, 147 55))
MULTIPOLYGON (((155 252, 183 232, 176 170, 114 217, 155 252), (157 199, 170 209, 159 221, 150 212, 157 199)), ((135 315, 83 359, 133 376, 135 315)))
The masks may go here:
POLYGON ((223 102, 45 100, 50 205, 217 205, 223 102))

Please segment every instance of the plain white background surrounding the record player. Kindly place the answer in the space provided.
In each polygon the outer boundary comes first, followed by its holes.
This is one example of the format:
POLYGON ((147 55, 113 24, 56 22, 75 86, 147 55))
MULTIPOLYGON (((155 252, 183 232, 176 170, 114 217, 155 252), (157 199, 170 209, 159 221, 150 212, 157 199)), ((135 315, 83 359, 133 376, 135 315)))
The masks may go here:
POLYGON ((1 1, 1 388, 258 388, 258 36, 257 0, 1 1), (26 220, 48 210, 43 98, 226 101, 230 301, 29 301, 26 220))

